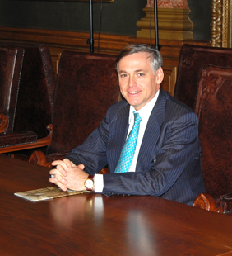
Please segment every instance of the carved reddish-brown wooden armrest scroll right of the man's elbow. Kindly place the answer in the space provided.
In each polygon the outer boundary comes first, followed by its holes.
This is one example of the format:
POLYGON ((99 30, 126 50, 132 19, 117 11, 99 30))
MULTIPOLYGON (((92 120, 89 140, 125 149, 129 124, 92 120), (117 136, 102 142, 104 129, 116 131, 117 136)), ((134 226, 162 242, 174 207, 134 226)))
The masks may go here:
POLYGON ((193 202, 193 207, 201 208, 206 211, 214 211, 218 213, 222 213, 222 207, 217 206, 214 199, 206 193, 201 193, 197 195, 195 201, 193 202))

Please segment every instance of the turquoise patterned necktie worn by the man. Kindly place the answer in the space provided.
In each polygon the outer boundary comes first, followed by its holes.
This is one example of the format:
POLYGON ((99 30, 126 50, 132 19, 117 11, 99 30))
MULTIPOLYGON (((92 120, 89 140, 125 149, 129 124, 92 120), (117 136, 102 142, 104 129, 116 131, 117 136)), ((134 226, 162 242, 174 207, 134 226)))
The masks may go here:
POLYGON ((131 167, 132 159, 135 154, 135 149, 137 145, 137 136, 139 131, 139 125, 142 121, 139 113, 134 112, 134 125, 133 128, 128 135, 128 140, 125 142, 123 146, 122 153, 120 155, 120 159, 118 161, 118 165, 115 169, 114 173, 127 173, 131 167))

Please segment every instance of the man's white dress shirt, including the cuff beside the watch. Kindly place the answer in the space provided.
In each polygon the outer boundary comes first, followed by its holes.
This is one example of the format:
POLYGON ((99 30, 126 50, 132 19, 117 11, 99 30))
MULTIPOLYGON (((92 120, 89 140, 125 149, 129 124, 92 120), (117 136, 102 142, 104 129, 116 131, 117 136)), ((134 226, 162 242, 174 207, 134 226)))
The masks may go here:
MULTIPOLYGON (((135 111, 136 113, 139 113, 140 117, 142 118, 142 121, 140 122, 139 126, 139 133, 137 137, 137 146, 136 146, 136 151, 134 154, 134 157, 132 159, 132 165, 129 169, 129 172, 135 172, 136 170, 136 165, 137 165, 137 157, 139 154, 139 150, 142 144, 142 139, 144 132, 146 130, 146 124, 151 116, 151 111, 153 107, 155 106, 155 102, 157 101, 157 98, 159 96, 160 90, 156 92, 155 97, 151 99, 150 102, 146 103, 144 107, 142 107, 139 111, 136 111, 134 107, 130 106, 130 112, 129 112, 129 128, 128 128, 128 135, 130 131, 132 130, 133 124, 134 124, 134 115, 133 112, 135 111)), ((95 192, 100 193, 102 192, 104 187, 104 181, 103 181, 103 174, 95 174, 95 192)))

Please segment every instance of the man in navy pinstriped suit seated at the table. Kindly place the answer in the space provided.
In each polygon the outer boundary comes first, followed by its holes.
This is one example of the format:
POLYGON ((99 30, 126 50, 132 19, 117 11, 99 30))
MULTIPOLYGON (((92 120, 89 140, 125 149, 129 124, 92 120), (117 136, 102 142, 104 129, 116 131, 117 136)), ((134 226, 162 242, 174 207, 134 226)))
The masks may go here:
POLYGON ((125 100, 109 107, 83 145, 53 162, 51 183, 63 191, 151 195, 193 205, 197 194, 205 192, 198 120, 160 89, 162 65, 160 52, 151 46, 128 45, 121 51, 116 68, 125 100), (127 145, 137 116, 136 142, 127 145), (106 165, 109 173, 95 174, 106 165))

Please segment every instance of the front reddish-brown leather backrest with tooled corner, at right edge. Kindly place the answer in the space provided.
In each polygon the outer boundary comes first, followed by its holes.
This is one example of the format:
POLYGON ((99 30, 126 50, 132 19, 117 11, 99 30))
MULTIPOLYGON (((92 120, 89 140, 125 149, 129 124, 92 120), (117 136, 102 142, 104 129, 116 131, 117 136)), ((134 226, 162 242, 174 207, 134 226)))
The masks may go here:
POLYGON ((232 68, 204 64, 196 84, 203 178, 218 197, 232 192, 232 68))

